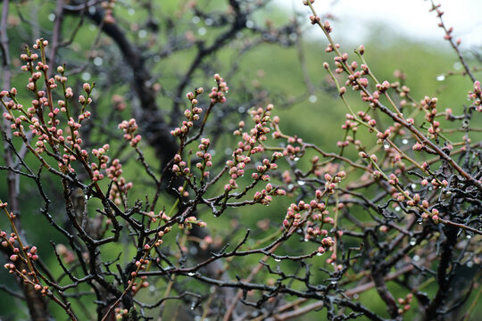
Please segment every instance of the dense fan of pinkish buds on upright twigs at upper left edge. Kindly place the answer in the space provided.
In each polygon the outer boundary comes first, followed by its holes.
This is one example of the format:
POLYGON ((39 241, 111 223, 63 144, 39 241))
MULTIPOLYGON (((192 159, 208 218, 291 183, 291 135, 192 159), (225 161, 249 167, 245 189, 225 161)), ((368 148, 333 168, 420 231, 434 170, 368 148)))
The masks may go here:
MULTIPOLYGON (((72 166, 74 161, 80 161, 83 166, 87 164, 88 152, 82 148, 82 138, 79 129, 85 119, 91 117, 90 111, 87 111, 87 106, 92 103, 90 95, 94 85, 84 84, 83 88, 86 95, 79 95, 79 103, 81 109, 79 116, 71 115, 69 102, 73 97, 71 87, 66 86, 67 77, 65 77, 65 68, 59 66, 57 68, 58 74, 54 78, 48 78, 49 66, 45 63, 45 47, 48 42, 44 39, 37 39, 33 45, 34 49, 40 51, 31 53, 29 48, 27 53, 21 54, 21 61, 26 62, 21 67, 21 70, 27 71, 30 74, 29 84, 27 88, 33 92, 35 98, 29 103, 29 107, 24 107, 17 100, 17 90, 12 88, 10 91, 2 91, 0 93, 1 103, 4 105, 6 111, 3 116, 4 119, 11 122, 12 135, 22 138, 25 144, 29 144, 29 134, 26 127, 29 128, 33 146, 28 145, 30 152, 33 152, 38 159, 40 154, 48 152, 55 154, 54 159, 57 161, 58 168, 63 172, 74 172, 72 166), (39 58, 42 62, 36 62, 39 58), (44 85, 40 82, 44 79, 44 85), (57 88, 57 83, 62 85, 63 98, 57 101, 54 105, 54 89, 57 88), (45 86, 45 89, 42 88, 45 86), (8 98, 8 99, 7 99, 8 98), (24 127, 24 125, 26 125, 24 127)), ((43 160, 44 165, 49 167, 46 160, 43 160)), ((95 180, 100 176, 93 175, 95 180)))

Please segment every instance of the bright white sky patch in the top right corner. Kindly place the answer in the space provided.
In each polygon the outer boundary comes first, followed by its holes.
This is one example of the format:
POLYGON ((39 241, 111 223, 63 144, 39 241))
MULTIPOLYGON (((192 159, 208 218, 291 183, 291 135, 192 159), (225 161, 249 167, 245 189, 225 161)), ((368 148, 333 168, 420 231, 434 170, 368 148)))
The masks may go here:
MULTIPOLYGON (((275 0, 276 4, 292 11, 306 12, 302 0, 275 0)), ((482 47, 482 1, 437 0, 445 12, 447 27, 453 27, 453 37, 461 38, 465 47, 482 47)), ((316 0, 319 15, 331 13, 337 21, 330 21, 334 37, 343 35, 355 44, 363 43, 373 26, 386 25, 387 33, 401 35, 415 41, 444 41, 444 31, 437 27, 435 12, 428 12, 431 4, 423 0, 316 0)))

